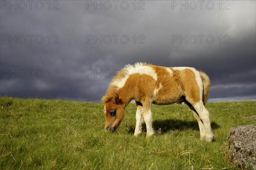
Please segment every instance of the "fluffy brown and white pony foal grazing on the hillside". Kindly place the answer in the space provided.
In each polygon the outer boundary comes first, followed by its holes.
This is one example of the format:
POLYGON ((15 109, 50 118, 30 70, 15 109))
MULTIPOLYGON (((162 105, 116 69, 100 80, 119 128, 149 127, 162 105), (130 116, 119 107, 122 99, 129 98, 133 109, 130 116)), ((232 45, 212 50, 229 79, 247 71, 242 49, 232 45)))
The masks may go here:
POLYGON ((209 89, 208 75, 191 67, 164 67, 148 63, 125 65, 113 77, 102 97, 105 130, 114 132, 119 127, 125 107, 134 99, 137 106, 134 136, 142 133, 143 120, 146 136, 152 136, 151 105, 183 101, 198 121, 201 140, 213 141, 209 112, 205 108, 209 89))

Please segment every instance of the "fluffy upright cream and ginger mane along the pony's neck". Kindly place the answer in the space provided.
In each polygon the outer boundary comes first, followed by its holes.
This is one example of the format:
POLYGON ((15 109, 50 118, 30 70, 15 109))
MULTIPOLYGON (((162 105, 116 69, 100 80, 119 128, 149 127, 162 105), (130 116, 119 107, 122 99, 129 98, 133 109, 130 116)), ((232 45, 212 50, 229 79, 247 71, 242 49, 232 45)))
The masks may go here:
POLYGON ((125 65, 121 70, 119 70, 118 72, 116 72, 116 75, 113 77, 110 85, 108 86, 108 90, 105 94, 105 96, 102 97, 102 102, 106 103, 108 101, 111 100, 111 98, 113 98, 116 94, 116 91, 119 89, 118 86, 116 86, 116 84, 114 82, 116 81, 120 81, 122 78, 124 78, 124 73, 125 72, 132 72, 134 69, 140 67, 140 66, 150 66, 152 64, 148 64, 148 63, 142 63, 142 62, 137 62, 134 65, 132 64, 127 64, 125 65))

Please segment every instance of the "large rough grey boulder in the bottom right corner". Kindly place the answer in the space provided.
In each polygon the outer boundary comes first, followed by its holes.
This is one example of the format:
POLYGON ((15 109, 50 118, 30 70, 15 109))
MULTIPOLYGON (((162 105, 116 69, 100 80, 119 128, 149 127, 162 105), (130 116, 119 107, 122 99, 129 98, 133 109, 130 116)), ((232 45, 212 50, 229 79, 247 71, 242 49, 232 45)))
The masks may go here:
POLYGON ((224 144, 226 155, 234 166, 256 170, 256 126, 234 127, 224 144))

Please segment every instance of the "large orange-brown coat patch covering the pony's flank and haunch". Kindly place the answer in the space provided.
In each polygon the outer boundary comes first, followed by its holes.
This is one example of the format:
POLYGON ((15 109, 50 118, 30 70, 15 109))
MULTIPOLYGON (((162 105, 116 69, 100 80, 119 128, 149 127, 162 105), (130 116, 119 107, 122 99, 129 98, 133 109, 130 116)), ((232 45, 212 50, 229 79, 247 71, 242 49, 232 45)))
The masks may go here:
POLYGON ((157 87, 162 84, 162 88, 154 96, 154 104, 173 104, 182 101, 184 96, 191 104, 200 102, 200 88, 195 79, 196 70, 175 69, 170 67, 172 74, 166 67, 152 66, 157 73, 157 87))

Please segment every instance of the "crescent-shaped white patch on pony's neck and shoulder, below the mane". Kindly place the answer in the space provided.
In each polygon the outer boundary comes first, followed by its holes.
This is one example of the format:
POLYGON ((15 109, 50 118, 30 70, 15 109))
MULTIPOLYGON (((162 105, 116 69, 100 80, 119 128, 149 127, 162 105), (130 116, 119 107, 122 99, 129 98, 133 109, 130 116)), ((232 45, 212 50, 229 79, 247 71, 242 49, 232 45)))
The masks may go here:
POLYGON ((124 66, 124 68, 120 70, 119 73, 121 74, 121 78, 111 83, 111 85, 115 85, 118 88, 125 86, 125 82, 129 76, 136 73, 139 73, 140 75, 149 75, 155 81, 157 81, 157 73, 154 71, 154 69, 151 66, 145 66, 143 63, 135 63, 134 65, 128 64, 124 66))

